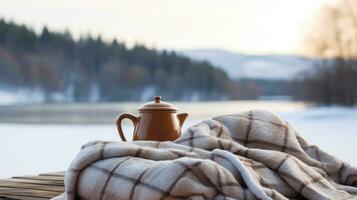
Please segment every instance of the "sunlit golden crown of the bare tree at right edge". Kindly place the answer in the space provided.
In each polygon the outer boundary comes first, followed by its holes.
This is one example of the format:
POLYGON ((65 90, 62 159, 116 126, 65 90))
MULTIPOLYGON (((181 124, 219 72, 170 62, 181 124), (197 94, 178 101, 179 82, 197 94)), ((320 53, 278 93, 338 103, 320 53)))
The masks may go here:
POLYGON ((305 47, 314 56, 357 57, 357 1, 339 0, 324 6, 306 36, 305 47))

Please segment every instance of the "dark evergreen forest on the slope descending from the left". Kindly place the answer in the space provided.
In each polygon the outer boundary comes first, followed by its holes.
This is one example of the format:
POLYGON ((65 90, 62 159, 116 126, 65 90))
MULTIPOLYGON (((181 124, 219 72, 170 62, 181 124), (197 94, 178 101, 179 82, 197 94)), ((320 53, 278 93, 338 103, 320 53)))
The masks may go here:
POLYGON ((162 95, 168 100, 237 97, 237 83, 208 62, 174 51, 91 35, 75 40, 44 27, 0 20, 0 85, 42 91, 47 101, 131 101, 162 95))

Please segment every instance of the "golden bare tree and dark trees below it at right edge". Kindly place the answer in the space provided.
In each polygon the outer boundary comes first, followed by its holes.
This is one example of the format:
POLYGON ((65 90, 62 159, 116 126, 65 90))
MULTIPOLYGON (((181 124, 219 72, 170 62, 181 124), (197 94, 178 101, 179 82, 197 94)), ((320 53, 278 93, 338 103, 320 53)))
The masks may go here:
POLYGON ((324 105, 357 105, 357 1, 323 7, 306 37, 321 61, 294 83, 296 97, 324 105))

